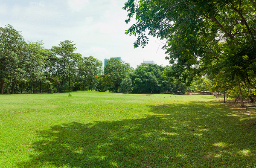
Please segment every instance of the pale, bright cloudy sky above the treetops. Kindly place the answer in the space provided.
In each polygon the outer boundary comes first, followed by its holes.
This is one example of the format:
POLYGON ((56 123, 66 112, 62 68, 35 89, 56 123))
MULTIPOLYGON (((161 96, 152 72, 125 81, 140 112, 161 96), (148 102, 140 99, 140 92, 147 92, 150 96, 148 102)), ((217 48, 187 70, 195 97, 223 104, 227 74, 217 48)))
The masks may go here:
POLYGON ((0 0, 0 27, 12 25, 25 41, 43 41, 46 49, 70 40, 76 53, 99 59, 121 57, 136 68, 143 61, 166 66, 163 41, 149 37, 145 48, 134 49, 137 37, 125 35, 128 0, 0 0))

